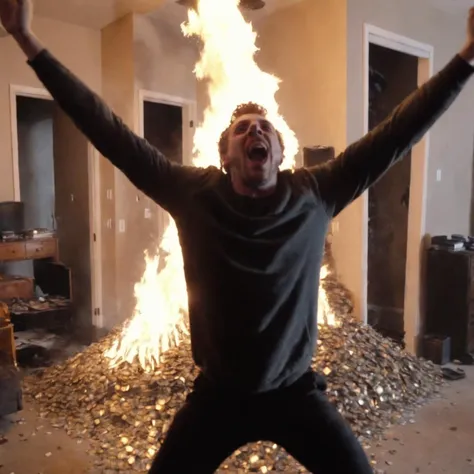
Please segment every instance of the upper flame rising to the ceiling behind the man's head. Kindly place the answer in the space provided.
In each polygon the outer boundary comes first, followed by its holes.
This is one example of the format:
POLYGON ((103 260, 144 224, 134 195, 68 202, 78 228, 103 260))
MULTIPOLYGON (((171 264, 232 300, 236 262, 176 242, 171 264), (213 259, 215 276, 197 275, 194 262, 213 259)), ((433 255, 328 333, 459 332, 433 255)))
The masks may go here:
POLYGON ((219 164, 217 142, 237 105, 256 102, 285 140, 284 168, 293 168, 298 140, 278 112, 275 94, 280 79, 262 71, 255 62, 256 33, 239 8, 239 0, 199 0, 197 11, 189 10, 186 36, 203 42, 201 58, 194 70, 198 79, 208 80, 210 105, 194 137, 194 164, 219 164))

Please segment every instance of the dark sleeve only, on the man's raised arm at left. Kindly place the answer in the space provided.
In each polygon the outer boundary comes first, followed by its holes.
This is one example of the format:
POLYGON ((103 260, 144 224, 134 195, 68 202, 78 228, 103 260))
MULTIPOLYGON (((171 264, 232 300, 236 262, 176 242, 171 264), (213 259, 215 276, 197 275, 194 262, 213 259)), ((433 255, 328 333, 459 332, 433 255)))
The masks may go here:
POLYGON ((127 178, 169 212, 177 211, 202 169, 168 160, 133 133, 80 79, 43 50, 28 64, 60 108, 92 145, 127 178))

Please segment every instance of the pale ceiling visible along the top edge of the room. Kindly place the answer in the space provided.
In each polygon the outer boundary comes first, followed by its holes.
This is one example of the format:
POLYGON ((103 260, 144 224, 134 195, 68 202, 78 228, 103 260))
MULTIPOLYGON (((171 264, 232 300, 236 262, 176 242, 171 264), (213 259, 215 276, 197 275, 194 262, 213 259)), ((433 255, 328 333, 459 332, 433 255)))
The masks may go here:
MULTIPOLYGON (((52 18, 89 28, 100 29, 130 12, 148 13, 161 10, 160 16, 169 16, 170 22, 180 21, 184 8, 175 0, 33 0, 38 16, 52 18), (165 13, 166 11, 166 13, 165 13)), ((217 0, 219 1, 219 0, 217 0)), ((249 14, 258 20, 273 11, 301 0, 265 0, 266 6, 249 14)), ((328 1, 328 0, 325 0, 328 1)), ((357 1, 357 0, 354 0, 357 1)), ((392 0, 393 1, 393 0, 392 0)), ((419 0, 413 0, 419 1, 419 0)), ((424 0, 437 8, 457 13, 474 6, 474 0, 424 0)))

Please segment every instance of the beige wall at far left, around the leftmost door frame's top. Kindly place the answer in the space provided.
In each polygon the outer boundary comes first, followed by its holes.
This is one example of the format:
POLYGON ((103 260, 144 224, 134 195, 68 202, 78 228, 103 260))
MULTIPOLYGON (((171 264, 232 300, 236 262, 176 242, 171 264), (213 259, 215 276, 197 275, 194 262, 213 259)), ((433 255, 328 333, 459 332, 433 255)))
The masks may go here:
MULTIPOLYGON (((37 18, 36 34, 66 66, 100 91, 100 33, 88 28, 37 18), (74 53, 72 51, 74 50, 74 53)), ((10 84, 41 87, 11 38, 0 39, 0 201, 14 198, 10 124, 10 84)))

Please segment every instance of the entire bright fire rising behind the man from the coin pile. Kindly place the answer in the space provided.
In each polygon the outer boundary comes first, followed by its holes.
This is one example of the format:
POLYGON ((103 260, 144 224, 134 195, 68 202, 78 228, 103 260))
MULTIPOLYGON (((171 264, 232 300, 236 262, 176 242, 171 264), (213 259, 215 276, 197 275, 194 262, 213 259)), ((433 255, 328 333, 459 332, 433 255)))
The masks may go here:
MULTIPOLYGON (((285 141, 283 165, 294 168, 299 144, 278 111, 275 94, 280 80, 262 71, 255 62, 257 35, 242 16, 239 0, 198 0, 196 10, 188 11, 182 31, 185 36, 197 36, 202 41, 201 57, 194 72, 198 79, 207 80, 209 95, 203 123, 195 132, 193 164, 219 166, 217 142, 222 130, 237 105, 252 101, 267 109, 268 118, 285 141)), ((138 358, 145 370, 152 370, 160 364, 162 354, 179 344, 187 333, 183 259, 171 217, 157 256, 146 255, 145 260, 145 272, 135 285, 133 317, 106 353, 113 366, 138 358)), ((322 279, 327 272, 323 267, 322 279)), ((324 323, 336 323, 322 285, 318 311, 324 323)))

